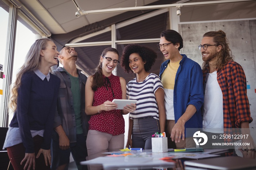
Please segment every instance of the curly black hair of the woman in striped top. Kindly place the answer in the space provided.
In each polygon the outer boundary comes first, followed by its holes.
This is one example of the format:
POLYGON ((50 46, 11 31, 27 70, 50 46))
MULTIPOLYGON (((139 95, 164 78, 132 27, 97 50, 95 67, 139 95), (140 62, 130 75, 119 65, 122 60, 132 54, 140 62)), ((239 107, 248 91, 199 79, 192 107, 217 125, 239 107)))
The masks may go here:
POLYGON ((151 69, 151 67, 154 65, 155 60, 157 58, 157 53, 151 50, 150 48, 135 45, 135 44, 129 44, 126 47, 124 47, 123 54, 121 57, 121 66, 123 67, 124 71, 127 73, 132 72, 129 66, 129 56, 132 53, 139 54, 142 60, 146 62, 146 64, 144 65, 144 69, 146 72, 148 72, 151 69))

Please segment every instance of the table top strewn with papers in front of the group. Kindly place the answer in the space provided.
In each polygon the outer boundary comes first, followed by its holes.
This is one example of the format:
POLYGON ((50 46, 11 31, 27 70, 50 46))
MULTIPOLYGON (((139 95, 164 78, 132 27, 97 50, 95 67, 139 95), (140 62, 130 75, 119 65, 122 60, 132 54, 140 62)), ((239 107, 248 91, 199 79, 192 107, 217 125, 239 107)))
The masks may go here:
MULTIPOLYGON (((206 151, 206 150, 205 150, 206 151)), ((224 151, 223 151, 224 152, 224 151)), ((226 150, 228 152, 228 150, 226 150)), ((220 153, 220 152, 217 152, 220 153)), ((224 153, 225 154, 225 153, 224 153)), ((88 159, 88 161, 81 162, 82 165, 89 167, 90 170, 101 170, 101 169, 168 169, 175 170, 176 162, 172 159, 181 159, 182 162, 192 160, 192 158, 215 158, 219 156, 225 156, 222 154, 212 155, 205 154, 203 152, 186 152, 176 153, 169 149, 169 152, 155 153, 151 150, 143 151, 112 151, 100 153, 88 159), (110 154, 117 154, 116 156, 109 156, 110 154), (126 156, 118 154, 127 154, 126 156), (132 154, 132 155, 130 155, 132 154), (106 156, 108 155, 108 156, 106 156), (160 160, 166 158, 166 161, 160 160), (168 159, 169 158, 169 159, 168 159), (167 162, 172 161, 172 162, 167 162)), ((195 159, 194 159, 195 160, 195 159)), ((218 163, 217 163, 218 164, 218 163)))

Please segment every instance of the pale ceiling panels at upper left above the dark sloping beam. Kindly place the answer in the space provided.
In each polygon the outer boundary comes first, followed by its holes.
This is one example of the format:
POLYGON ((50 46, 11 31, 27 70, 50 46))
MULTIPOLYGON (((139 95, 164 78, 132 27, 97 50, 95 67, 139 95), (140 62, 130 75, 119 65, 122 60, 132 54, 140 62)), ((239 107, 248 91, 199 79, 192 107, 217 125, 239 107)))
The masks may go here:
MULTIPOLYGON (((157 0, 138 0, 137 6, 157 0)), ((64 34, 83 26, 118 15, 121 12, 83 15, 75 17, 78 11, 72 0, 20 0, 52 34, 64 34)), ((81 9, 95 10, 119 7, 134 7, 135 0, 76 0, 81 9)))

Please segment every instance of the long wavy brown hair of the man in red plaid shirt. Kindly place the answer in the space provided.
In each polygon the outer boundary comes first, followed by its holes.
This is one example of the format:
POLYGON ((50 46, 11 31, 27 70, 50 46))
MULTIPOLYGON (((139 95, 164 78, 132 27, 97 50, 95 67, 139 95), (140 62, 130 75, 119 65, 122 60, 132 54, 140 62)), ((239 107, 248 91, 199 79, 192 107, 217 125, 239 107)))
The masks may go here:
MULTIPOLYGON (((222 30, 219 31, 210 31, 206 32, 203 37, 213 37, 213 42, 219 46, 222 46, 221 51, 219 51, 216 55, 216 62, 215 62, 215 67, 217 70, 220 70, 223 68, 223 66, 228 62, 228 61, 234 61, 232 52, 229 48, 229 43, 226 38, 226 33, 223 32, 222 30)), ((207 69, 209 67, 208 62, 203 62, 202 68, 203 70, 207 69)))

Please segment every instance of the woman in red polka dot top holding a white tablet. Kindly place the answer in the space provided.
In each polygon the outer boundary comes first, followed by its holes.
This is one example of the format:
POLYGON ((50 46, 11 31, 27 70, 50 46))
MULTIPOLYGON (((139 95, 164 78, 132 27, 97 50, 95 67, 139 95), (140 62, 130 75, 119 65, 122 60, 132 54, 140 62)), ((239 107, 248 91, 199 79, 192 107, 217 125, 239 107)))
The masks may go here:
POLYGON ((103 50, 99 65, 93 76, 87 78, 85 86, 85 112, 91 115, 86 146, 88 156, 124 148, 123 115, 133 112, 135 104, 123 110, 116 109, 112 100, 126 99, 124 78, 114 76, 112 71, 119 63, 118 51, 114 48, 103 50))

